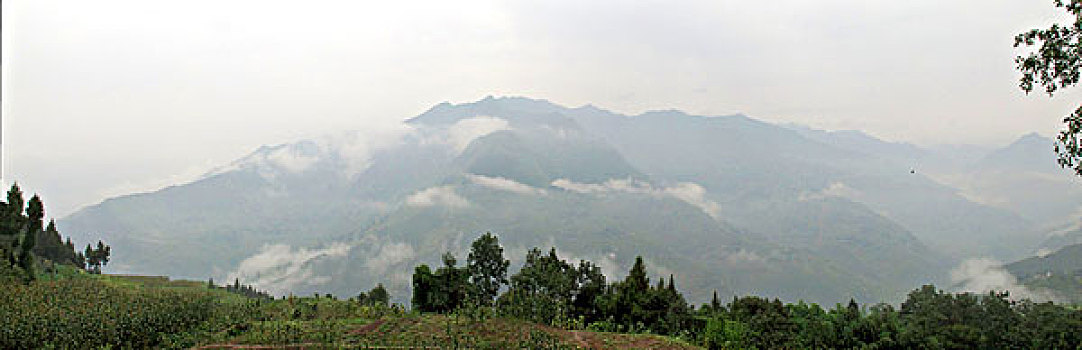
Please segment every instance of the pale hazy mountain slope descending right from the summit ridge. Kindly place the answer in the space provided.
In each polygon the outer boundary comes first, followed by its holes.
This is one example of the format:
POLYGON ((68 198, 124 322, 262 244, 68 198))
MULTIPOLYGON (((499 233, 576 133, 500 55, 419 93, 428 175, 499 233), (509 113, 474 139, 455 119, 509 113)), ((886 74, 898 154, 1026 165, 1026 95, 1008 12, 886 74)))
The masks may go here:
MULTIPOLYGON (((868 206, 951 255, 1011 258, 1019 252, 998 243, 1031 230, 1017 215, 973 203, 951 187, 911 173, 908 161, 865 153, 919 153, 907 146, 880 142, 883 145, 869 150, 849 150, 841 145, 853 142, 830 145, 743 116, 659 112, 623 117, 592 108, 571 115, 647 174, 701 183, 731 212, 728 218, 754 231, 769 232, 779 219, 804 224, 800 218, 814 216, 821 205, 800 199, 821 196, 853 200, 835 203, 839 206, 868 206), (788 207, 791 213, 770 218, 776 206, 788 207)), ((858 144, 869 143, 861 140, 858 144)))

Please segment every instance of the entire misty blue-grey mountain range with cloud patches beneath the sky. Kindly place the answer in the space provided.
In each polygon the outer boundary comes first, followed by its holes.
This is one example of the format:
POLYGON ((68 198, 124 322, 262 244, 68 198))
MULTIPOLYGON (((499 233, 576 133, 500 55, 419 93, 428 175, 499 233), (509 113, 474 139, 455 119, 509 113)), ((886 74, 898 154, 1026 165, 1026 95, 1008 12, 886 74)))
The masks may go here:
POLYGON ((58 222, 106 239, 118 272, 239 278, 343 296, 465 258, 491 231, 513 267, 554 246, 612 278, 644 256, 691 300, 757 294, 896 301, 961 259, 1034 252, 1082 186, 1052 141, 922 148, 859 131, 678 111, 487 98, 400 128, 263 146, 198 181, 58 222), (1041 145, 1046 145, 1042 147, 1041 145))

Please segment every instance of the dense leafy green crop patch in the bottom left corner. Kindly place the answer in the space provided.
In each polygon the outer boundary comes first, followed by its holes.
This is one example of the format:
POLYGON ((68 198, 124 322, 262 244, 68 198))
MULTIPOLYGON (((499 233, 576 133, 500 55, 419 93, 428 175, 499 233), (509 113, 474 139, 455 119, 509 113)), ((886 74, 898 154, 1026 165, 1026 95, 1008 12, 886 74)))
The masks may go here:
POLYGON ((0 289, 0 348, 145 348, 213 317, 215 298, 187 288, 131 289, 63 268, 65 273, 0 289))

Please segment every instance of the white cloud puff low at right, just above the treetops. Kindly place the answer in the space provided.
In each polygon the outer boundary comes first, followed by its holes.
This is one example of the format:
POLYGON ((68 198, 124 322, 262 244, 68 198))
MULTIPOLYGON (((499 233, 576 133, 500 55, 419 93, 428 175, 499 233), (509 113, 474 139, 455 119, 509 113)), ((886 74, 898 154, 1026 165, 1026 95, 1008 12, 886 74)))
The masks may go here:
POLYGON ((987 294, 990 290, 1010 291, 1012 299, 1031 299, 1038 301, 1054 300, 1052 293, 1026 287, 1018 278, 1003 269, 1003 264, 993 259, 979 258, 962 261, 951 270, 950 278, 956 291, 987 294))

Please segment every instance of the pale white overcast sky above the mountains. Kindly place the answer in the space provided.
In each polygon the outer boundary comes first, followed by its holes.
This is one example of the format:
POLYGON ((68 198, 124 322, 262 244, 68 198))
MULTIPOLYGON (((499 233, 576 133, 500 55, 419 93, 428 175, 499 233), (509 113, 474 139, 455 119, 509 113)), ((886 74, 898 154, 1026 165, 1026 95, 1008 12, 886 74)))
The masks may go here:
POLYGON ((860 129, 918 144, 1051 135, 1012 38, 1043 0, 3 2, 3 180, 50 217, 262 144, 525 95, 860 129))

